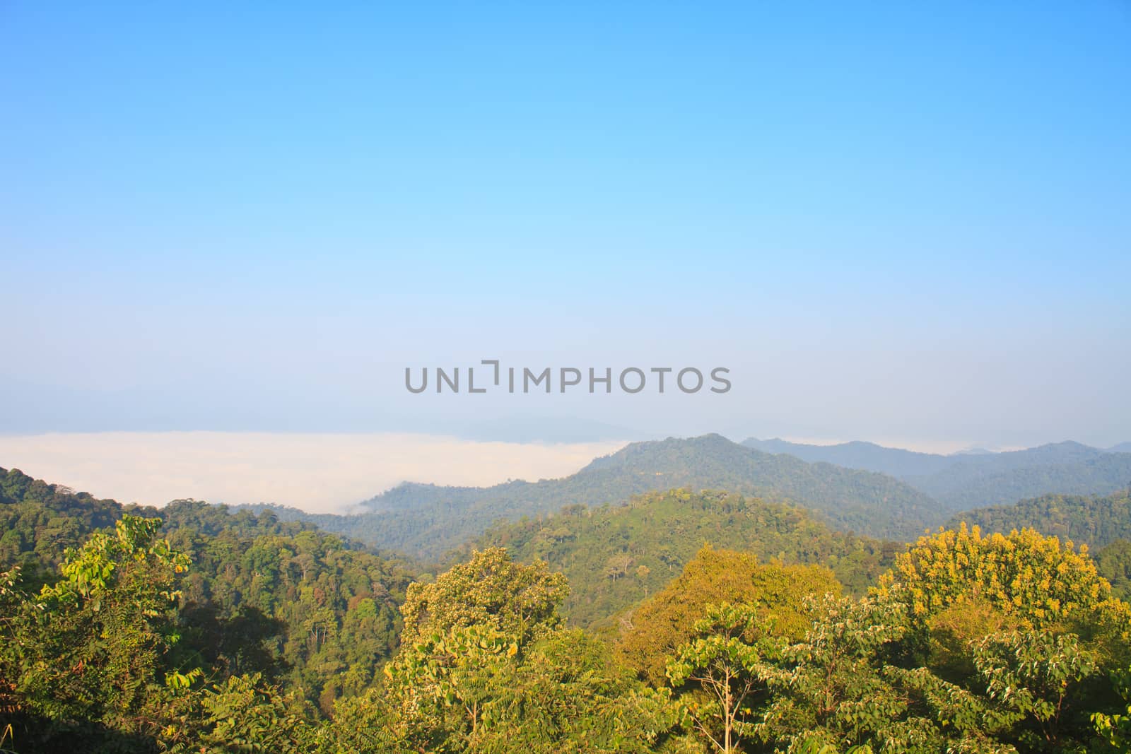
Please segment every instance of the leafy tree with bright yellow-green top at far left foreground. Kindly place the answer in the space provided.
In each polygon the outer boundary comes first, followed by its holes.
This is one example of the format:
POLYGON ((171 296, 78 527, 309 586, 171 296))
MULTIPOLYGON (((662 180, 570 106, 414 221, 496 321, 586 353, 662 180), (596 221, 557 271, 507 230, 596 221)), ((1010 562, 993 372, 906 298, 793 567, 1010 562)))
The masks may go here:
POLYGON ((159 527, 122 517, 112 534, 67 551, 58 583, 10 606, 0 668, 17 717, 46 721, 33 726, 42 740, 68 735, 76 720, 153 731, 166 673, 176 673, 163 660, 179 639, 172 609, 189 566, 157 538, 159 527))

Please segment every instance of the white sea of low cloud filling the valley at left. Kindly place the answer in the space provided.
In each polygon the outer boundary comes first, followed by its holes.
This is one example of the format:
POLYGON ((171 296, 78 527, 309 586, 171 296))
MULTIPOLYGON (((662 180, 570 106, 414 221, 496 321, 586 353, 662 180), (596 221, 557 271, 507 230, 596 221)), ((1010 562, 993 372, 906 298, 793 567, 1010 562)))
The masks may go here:
POLYGON ((123 503, 195 497, 343 512, 406 480, 486 486, 567 476, 623 445, 423 434, 67 433, 0 436, 0 466, 123 503))

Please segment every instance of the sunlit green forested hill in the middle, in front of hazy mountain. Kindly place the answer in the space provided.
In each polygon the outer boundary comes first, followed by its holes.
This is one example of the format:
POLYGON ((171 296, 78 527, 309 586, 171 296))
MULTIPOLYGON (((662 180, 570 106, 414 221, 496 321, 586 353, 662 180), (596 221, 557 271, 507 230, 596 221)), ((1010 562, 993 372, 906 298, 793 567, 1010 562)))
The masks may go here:
POLYGON ((492 528, 476 546, 561 571, 570 623, 592 627, 659 591, 703 546, 741 549, 763 562, 820 563, 864 591, 904 545, 832 531, 808 511, 724 492, 688 488, 618 505, 568 505, 553 515, 492 528))

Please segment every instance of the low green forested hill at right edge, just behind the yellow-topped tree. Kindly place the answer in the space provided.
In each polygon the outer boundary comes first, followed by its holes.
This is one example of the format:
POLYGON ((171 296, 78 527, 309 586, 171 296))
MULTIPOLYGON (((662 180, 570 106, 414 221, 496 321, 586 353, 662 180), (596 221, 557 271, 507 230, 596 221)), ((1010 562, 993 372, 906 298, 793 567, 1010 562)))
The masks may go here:
POLYGON ((1008 534, 1026 527, 1046 536, 1071 539, 1098 549, 1116 539, 1131 539, 1131 499, 1123 489, 1113 495, 1044 495, 1013 505, 991 505, 959 513, 947 525, 978 526, 983 531, 1008 534))

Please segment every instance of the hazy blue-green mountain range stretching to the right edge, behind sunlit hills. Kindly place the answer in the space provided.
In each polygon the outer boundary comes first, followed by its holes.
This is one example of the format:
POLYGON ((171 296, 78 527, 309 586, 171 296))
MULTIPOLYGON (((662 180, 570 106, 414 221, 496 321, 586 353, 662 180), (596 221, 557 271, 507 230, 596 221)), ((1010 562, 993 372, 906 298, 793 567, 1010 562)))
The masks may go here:
POLYGON ((492 525, 687 487, 726 489, 813 511, 835 529, 912 540, 964 510, 1045 494, 1111 494, 1131 482, 1131 453, 1062 442, 1012 452, 941 456, 867 442, 735 443, 718 434, 636 442, 567 477, 490 487, 404 483, 353 514, 273 506, 373 546, 437 560, 492 525))

